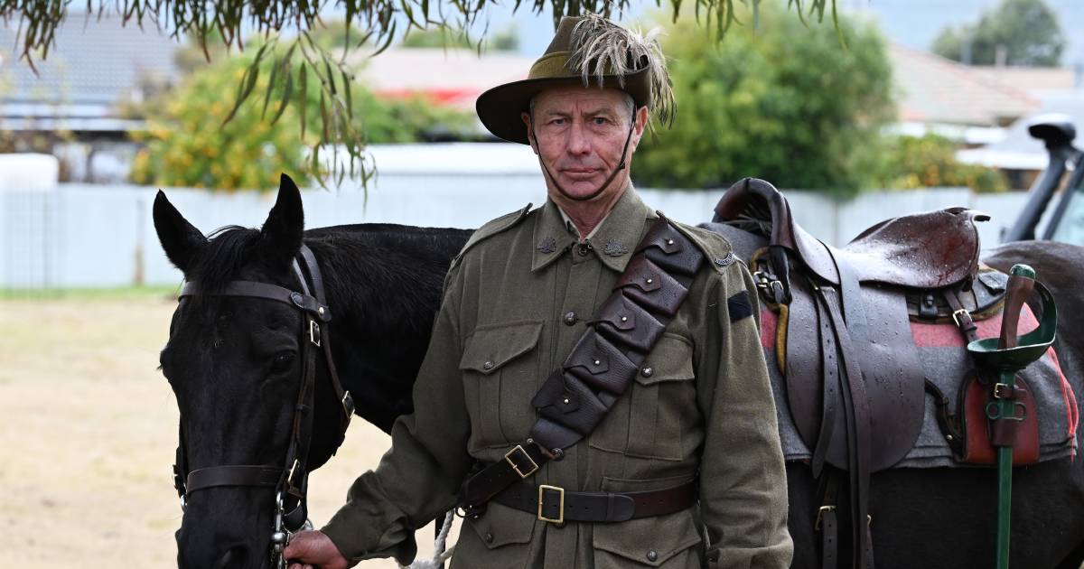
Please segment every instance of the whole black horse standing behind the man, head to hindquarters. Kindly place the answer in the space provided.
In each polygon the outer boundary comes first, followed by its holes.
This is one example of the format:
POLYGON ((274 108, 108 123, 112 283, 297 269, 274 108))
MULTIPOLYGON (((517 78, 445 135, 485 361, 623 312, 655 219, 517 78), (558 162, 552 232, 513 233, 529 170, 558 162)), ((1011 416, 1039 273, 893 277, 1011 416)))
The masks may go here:
MULTIPOLYGON (((336 337, 334 359, 358 414, 387 431, 412 410, 411 386, 428 344, 450 259, 468 231, 401 225, 343 225, 304 232, 301 202, 284 178, 262 230, 228 228, 204 237, 159 194, 155 228, 169 259, 205 289, 233 280, 287 288, 300 283, 291 260, 302 242, 319 260, 336 337)), ((756 245, 733 235, 736 248, 756 245)), ((751 250, 751 249, 746 249, 751 250)), ((1029 247, 1006 246, 1002 262, 1032 263, 1066 314, 1077 312, 1075 283, 1084 261, 1048 264, 1029 247)), ((181 410, 191 468, 274 463, 285 452, 287 418, 297 389, 300 316, 259 299, 185 298, 170 326, 162 363, 181 410), (243 421, 241 419, 243 417, 243 421), (271 442, 269 442, 271 441, 271 442)), ((1064 329, 1064 326, 1063 326, 1064 329)), ((1061 335, 1059 354, 1084 392, 1079 366, 1084 338, 1061 335)), ((770 365, 773 363, 770 362, 770 365)), ((326 370, 319 370, 326 374, 326 370)), ((318 379, 318 386, 327 386, 318 379)), ((785 404, 780 402, 780 404, 785 404)), ((338 402, 318 389, 309 469, 332 454, 338 402)), ((1080 436, 1079 436, 1080 437, 1080 436)), ((1018 469, 1014 488, 1014 567, 1071 567, 1084 560, 1084 465, 1051 461, 1018 469)), ((820 536, 810 516, 816 488, 804 464, 787 465, 795 567, 818 567, 820 536)), ((995 475, 992 469, 894 469, 875 474, 870 509, 878 567, 983 567, 993 564, 995 475)), ((268 567, 273 496, 270 490, 217 488, 193 494, 177 533, 183 568, 268 567)))

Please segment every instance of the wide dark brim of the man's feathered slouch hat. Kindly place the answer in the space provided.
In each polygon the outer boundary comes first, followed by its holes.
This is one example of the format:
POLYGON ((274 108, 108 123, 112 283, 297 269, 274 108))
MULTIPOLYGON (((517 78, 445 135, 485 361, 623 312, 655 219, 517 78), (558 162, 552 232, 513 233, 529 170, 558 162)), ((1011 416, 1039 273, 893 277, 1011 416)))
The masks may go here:
MULTIPOLYGON (((617 87, 632 95, 636 107, 650 104, 650 74, 648 69, 630 73, 624 76, 624 87, 620 87, 620 78, 616 75, 603 76, 604 87, 617 87)), ((527 138, 527 125, 520 116, 530 111, 531 99, 555 87, 583 87, 584 89, 597 88, 592 80, 590 86, 583 86, 583 79, 579 76, 569 77, 538 77, 534 79, 522 79, 511 83, 499 85, 485 93, 478 95, 475 102, 475 111, 481 124, 493 133, 493 135, 508 142, 530 144, 527 138)))

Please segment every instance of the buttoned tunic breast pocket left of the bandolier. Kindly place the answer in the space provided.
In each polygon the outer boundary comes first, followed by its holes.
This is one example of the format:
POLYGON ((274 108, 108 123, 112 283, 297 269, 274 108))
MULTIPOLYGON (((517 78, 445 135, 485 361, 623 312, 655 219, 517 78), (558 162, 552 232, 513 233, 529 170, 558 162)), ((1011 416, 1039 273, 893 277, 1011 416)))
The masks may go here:
POLYGON ((519 321, 478 326, 467 338, 460 371, 470 416, 469 451, 506 447, 527 436, 534 421, 541 334, 541 321, 519 321))

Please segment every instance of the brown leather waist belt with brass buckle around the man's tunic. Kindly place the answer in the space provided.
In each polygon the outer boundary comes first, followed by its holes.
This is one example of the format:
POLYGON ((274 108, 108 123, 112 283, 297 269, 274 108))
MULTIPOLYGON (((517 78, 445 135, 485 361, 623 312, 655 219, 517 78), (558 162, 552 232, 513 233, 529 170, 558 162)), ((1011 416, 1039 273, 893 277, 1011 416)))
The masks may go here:
POLYGON ((684 484, 642 492, 571 492, 555 486, 516 483, 493 499, 538 519, 616 522, 675 514, 696 504, 696 479, 684 484))

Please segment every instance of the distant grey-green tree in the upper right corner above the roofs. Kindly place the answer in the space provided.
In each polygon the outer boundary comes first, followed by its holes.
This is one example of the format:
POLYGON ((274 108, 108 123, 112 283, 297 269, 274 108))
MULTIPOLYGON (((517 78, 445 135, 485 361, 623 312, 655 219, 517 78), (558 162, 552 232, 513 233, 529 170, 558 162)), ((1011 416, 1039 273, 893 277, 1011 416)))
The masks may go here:
POLYGON ((934 53, 970 65, 999 63, 1002 51, 1007 65, 1051 67, 1064 49, 1058 16, 1043 0, 1003 0, 977 24, 946 27, 933 40, 934 53))

